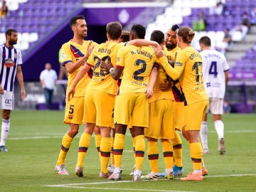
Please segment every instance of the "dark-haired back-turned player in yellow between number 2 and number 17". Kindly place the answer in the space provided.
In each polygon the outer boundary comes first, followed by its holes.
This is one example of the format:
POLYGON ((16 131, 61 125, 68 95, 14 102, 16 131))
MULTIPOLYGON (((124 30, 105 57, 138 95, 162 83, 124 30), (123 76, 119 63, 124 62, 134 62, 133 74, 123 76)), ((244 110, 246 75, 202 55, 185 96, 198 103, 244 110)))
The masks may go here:
MULTIPOLYGON (((156 41, 164 49, 164 33, 155 30, 151 33, 151 41, 156 41)), ((166 55, 166 58, 168 56, 166 55)), ((153 68, 152 70, 157 70, 153 68)), ((166 178, 174 178, 173 176, 173 146, 171 144, 174 138, 174 95, 171 87, 167 90, 160 90, 161 82, 167 79, 164 68, 159 65, 156 83, 153 87, 153 95, 149 97, 149 128, 144 129, 147 139, 147 154, 151 172, 146 176, 141 176, 144 180, 159 179, 159 147, 158 139, 161 140, 164 154, 164 162, 166 165, 166 178)))

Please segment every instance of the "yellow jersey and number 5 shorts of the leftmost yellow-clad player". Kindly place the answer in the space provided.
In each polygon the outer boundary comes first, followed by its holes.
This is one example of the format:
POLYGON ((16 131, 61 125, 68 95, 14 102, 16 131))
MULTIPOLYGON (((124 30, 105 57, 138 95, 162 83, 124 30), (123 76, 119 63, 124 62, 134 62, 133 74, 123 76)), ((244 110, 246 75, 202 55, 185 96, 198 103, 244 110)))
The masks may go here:
MULTIPOLYGON (((72 40, 68 41, 67 43, 63 44, 60 49, 60 62, 65 65, 66 63, 75 63, 76 61, 80 60, 85 53, 87 52, 87 45, 90 41, 84 41, 82 45, 73 42, 72 40)), ((92 42, 91 46, 96 46, 97 43, 92 42)), ((82 65, 80 66, 80 68, 82 65)), ((67 90, 70 89, 73 81, 75 80, 75 76, 78 74, 80 70, 78 68, 73 73, 68 73, 68 87, 67 90)), ((82 123, 82 115, 84 110, 84 96, 85 90, 87 85, 90 82, 90 72, 87 73, 76 86, 75 95, 73 98, 70 98, 70 101, 66 100, 65 106, 65 119, 64 122, 74 123, 74 124, 81 124, 82 123)))

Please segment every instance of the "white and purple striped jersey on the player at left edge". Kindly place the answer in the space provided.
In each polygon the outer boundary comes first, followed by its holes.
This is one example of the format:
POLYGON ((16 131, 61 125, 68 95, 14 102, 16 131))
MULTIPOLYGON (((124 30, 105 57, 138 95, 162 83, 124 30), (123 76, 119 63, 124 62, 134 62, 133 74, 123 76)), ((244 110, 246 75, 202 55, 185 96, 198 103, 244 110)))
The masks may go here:
POLYGON ((4 90, 14 92, 17 65, 21 64, 21 50, 0 45, 0 81, 4 90))

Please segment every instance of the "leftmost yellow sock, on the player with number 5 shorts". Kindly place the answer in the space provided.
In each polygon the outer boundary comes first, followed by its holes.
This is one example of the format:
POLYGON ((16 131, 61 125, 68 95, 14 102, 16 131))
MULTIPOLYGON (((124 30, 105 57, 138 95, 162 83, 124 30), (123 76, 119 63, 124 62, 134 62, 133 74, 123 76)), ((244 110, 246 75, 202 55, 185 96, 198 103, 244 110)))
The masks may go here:
POLYGON ((65 164, 65 158, 68 154, 68 149, 70 148, 72 141, 73 141, 73 138, 70 137, 68 134, 65 134, 63 136, 63 140, 62 140, 61 148, 60 148, 60 154, 58 156, 58 161, 57 161, 58 165, 65 164))

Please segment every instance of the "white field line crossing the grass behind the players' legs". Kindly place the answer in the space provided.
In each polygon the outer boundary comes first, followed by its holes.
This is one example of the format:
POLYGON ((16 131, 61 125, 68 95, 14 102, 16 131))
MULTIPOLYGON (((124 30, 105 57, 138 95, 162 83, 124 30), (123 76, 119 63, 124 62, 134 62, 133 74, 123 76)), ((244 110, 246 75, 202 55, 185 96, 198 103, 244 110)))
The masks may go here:
MULTIPOLYGON (((255 133, 256 130, 239 130, 239 131, 225 131, 227 134, 240 134, 240 133, 255 133)), ((208 131, 208 133, 215 133, 215 131, 208 131)), ((26 135, 26 134, 23 134, 26 135)), ((29 134, 31 135, 31 134, 29 134)), ((34 134, 37 135, 37 134, 34 134)), ((48 134, 49 135, 49 134, 48 134)), ((9 137, 8 139, 11 140, 24 140, 24 139, 52 139, 52 138, 62 138, 64 134, 53 134, 55 136, 35 136, 35 137, 9 137), (59 135, 59 136, 57 136, 59 135)), ((131 136, 130 133, 126 134, 127 136, 131 136)), ((78 136, 79 137, 79 136, 78 136)), ((94 134, 92 134, 92 137, 95 137, 94 134)))

